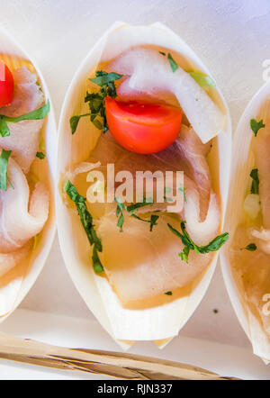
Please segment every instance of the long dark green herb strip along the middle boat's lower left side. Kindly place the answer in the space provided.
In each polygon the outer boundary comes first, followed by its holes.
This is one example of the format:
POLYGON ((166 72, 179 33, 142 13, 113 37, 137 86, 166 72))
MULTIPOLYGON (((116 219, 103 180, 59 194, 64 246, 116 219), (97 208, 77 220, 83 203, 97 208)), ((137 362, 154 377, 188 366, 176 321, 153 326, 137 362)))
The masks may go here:
POLYGON ((101 253, 103 251, 103 246, 102 241, 98 238, 94 230, 92 215, 88 212, 85 204, 86 199, 78 194, 76 187, 70 181, 67 181, 65 191, 72 202, 76 204, 76 209, 84 227, 87 239, 89 240, 90 246, 94 246, 92 255, 93 267, 94 271, 97 274, 100 274, 103 272, 104 268, 98 256, 98 252, 101 253))

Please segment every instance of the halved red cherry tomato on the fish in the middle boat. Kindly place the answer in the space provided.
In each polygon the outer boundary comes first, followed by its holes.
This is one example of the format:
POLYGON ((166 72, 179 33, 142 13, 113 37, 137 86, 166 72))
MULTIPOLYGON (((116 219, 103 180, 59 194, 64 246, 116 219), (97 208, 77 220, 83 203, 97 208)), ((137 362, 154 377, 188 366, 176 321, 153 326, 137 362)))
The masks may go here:
POLYGON ((169 147, 178 137, 182 112, 163 104, 105 100, 112 137, 125 149, 149 154, 169 147))

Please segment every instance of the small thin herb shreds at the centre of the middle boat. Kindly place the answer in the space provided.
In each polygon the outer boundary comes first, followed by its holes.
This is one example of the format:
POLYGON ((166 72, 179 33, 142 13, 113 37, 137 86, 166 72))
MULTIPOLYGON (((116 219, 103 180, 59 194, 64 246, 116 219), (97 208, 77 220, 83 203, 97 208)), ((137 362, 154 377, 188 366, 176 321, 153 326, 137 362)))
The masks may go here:
POLYGON ((134 217, 141 222, 148 222, 150 224, 150 232, 153 231, 154 226, 157 225, 157 220, 159 218, 158 215, 151 214, 150 220, 145 220, 145 219, 139 217, 137 214, 135 214, 136 210, 138 210, 140 207, 144 207, 144 206, 148 206, 149 204, 153 204, 152 200, 150 202, 148 199, 144 199, 143 202, 139 202, 137 204, 130 204, 129 206, 122 204, 121 200, 119 198, 115 198, 114 202, 117 203, 117 207, 116 207, 116 217, 118 217, 117 226, 119 227, 121 232, 122 232, 122 226, 124 223, 124 215, 123 215, 124 210, 126 210, 126 212, 128 212, 130 214, 130 217, 134 217))

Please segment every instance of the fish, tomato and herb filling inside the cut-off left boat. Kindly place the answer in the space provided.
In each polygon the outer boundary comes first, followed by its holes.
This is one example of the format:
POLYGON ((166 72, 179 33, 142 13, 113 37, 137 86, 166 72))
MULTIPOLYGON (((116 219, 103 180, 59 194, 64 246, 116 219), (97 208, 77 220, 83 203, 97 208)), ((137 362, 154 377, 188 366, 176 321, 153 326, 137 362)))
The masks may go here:
POLYGON ((47 113, 36 75, 26 67, 11 70, 0 59, 0 276, 31 254, 49 217, 49 187, 31 172, 45 158, 47 113))

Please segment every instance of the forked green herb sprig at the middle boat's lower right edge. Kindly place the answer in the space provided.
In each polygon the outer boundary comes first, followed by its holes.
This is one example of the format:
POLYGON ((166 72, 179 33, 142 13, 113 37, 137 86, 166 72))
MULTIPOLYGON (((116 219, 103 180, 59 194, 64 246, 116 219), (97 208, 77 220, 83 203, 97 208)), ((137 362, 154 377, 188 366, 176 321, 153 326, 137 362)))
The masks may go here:
POLYGON ((221 246, 229 239, 229 233, 222 233, 220 236, 217 236, 214 240, 206 246, 197 246, 193 240, 190 238, 188 233, 185 231, 185 222, 181 222, 181 230, 183 233, 175 230, 170 224, 167 224, 170 231, 172 231, 178 238, 182 240, 184 244, 183 252, 179 253, 179 256, 183 261, 188 263, 188 256, 190 250, 194 250, 197 254, 205 254, 210 251, 217 251, 221 248, 221 246))

